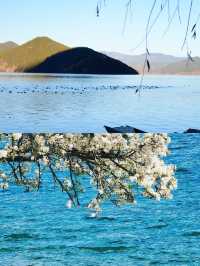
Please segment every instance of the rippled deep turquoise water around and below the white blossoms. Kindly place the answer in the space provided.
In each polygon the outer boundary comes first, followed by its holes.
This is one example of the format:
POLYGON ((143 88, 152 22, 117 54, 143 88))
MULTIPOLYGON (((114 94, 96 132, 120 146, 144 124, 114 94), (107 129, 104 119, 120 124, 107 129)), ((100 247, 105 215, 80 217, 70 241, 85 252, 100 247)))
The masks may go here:
POLYGON ((59 191, 1 192, 0 265, 200 265, 200 134, 171 137, 179 184, 170 201, 106 204, 91 219, 66 209, 59 191))

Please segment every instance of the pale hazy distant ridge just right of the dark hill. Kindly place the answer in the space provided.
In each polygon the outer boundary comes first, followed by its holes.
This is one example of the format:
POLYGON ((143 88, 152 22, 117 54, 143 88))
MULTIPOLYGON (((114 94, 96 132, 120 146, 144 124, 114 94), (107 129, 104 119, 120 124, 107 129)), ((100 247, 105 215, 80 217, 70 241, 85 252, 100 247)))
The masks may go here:
MULTIPOLYGON (((123 63, 129 65, 130 67, 134 67, 140 73, 143 71, 145 54, 128 55, 117 52, 103 52, 103 53, 112 58, 122 61, 123 63)), ((172 55, 165 55, 161 53, 152 53, 150 54, 150 64, 151 64, 150 73, 151 74, 159 73, 160 69, 164 68, 165 66, 180 62, 182 60, 184 60, 184 58, 182 57, 175 57, 172 55)))

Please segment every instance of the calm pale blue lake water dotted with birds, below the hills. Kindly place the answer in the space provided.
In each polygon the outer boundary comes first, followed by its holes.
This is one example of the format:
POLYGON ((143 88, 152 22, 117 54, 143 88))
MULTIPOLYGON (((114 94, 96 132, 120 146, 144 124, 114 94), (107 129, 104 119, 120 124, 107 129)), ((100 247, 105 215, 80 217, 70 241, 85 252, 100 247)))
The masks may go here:
POLYGON ((0 75, 0 130, 103 132, 132 125, 151 132, 200 127, 200 77, 0 75))

